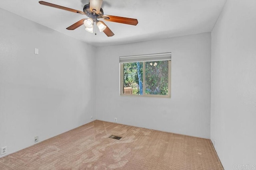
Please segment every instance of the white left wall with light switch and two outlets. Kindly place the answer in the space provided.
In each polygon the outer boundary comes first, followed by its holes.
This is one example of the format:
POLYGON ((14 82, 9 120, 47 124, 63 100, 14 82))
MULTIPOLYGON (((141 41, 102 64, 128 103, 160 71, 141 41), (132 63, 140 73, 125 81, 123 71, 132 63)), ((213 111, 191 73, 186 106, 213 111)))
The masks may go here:
POLYGON ((15 152, 35 135, 42 141, 92 121, 95 48, 5 10, 0 16, 0 147, 15 152))

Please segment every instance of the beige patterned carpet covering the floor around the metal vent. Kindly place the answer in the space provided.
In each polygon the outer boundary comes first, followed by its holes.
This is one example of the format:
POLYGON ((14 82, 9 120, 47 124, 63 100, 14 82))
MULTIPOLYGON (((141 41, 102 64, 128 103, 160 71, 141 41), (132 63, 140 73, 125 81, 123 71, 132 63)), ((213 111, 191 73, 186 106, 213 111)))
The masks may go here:
POLYGON ((0 158, 0 169, 223 170, 209 139, 98 120, 0 158))

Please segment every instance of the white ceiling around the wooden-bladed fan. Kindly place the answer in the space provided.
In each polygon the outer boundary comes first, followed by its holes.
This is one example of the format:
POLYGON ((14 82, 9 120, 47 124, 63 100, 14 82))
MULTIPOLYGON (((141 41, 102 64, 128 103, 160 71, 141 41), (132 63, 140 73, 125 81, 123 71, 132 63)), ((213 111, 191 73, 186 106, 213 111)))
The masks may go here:
MULTIPOLYGON (((176 37, 212 31, 226 0, 103 0, 104 14, 136 18, 138 25, 126 25, 105 21, 115 33, 107 37, 97 30, 97 35, 84 30, 66 27, 87 18, 49 6, 39 0, 0 0, 0 8, 40 23, 94 46, 114 45, 176 37)), ((89 0, 44 0, 52 4, 83 11, 89 0)), ((15 25, 14 25, 15 26, 15 25)))

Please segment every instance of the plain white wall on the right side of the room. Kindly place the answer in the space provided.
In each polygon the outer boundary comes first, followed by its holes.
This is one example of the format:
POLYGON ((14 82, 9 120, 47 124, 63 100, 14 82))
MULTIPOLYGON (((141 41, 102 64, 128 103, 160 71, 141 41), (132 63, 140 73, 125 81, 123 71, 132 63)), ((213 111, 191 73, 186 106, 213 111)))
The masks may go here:
POLYGON ((212 30, 211 139, 226 170, 255 168, 255 0, 227 0, 212 30))

